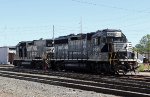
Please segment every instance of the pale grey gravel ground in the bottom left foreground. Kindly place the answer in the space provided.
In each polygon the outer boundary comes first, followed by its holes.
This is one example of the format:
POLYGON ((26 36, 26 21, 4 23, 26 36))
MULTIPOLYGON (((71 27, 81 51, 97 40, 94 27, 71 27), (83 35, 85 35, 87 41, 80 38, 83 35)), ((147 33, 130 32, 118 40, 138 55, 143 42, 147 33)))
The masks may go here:
POLYGON ((0 97, 117 97, 61 86, 0 77, 0 97))

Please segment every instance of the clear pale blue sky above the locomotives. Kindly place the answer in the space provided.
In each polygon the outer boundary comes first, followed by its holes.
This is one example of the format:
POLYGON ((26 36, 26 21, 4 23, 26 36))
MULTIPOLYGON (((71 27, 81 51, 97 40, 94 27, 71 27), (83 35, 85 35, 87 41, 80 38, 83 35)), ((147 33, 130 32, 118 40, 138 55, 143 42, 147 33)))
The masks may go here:
POLYGON ((0 46, 120 29, 133 46, 150 34, 150 0, 0 0, 0 46))

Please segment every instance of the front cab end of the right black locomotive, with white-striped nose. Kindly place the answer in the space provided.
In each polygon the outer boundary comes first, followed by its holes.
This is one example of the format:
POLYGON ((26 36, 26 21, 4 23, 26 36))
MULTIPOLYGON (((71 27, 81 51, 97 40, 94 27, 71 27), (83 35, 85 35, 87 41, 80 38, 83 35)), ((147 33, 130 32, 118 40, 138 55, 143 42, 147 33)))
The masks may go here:
POLYGON ((104 29, 92 37, 93 55, 91 58, 102 64, 104 71, 127 73, 135 71, 137 60, 132 45, 121 30, 104 29), (105 65, 105 66, 104 66, 105 65), (115 68, 115 70, 113 70, 115 68))

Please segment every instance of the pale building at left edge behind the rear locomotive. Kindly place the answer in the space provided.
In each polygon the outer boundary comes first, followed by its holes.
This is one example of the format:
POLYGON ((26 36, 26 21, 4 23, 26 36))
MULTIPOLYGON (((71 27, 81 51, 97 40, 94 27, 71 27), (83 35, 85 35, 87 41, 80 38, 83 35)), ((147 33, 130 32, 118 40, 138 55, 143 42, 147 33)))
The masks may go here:
POLYGON ((0 64, 12 64, 16 54, 16 47, 0 47, 0 64))

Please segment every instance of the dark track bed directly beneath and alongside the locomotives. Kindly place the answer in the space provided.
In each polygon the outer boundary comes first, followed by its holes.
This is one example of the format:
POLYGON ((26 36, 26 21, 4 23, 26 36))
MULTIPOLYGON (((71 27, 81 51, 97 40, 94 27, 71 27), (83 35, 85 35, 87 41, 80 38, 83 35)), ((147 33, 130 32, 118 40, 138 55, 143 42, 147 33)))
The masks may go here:
MULTIPOLYGON (((125 81, 126 79, 127 79, 127 81, 130 81, 130 82, 137 82, 138 81, 138 83, 141 83, 141 84, 145 83, 145 82, 150 83, 150 76, 144 76, 144 75, 106 76, 106 75, 93 75, 93 74, 82 74, 82 73, 72 73, 72 72, 62 72, 62 71, 46 71, 45 72, 43 70, 33 70, 33 69, 25 69, 25 68, 0 68, 0 70, 31 73, 31 74, 65 76, 65 77, 71 77, 71 78, 76 78, 76 76, 70 76, 70 75, 74 75, 74 74, 76 74, 79 77, 81 77, 81 76, 86 76, 87 77, 87 75, 88 76, 100 76, 100 77, 98 77, 98 79, 103 78, 105 76, 105 77, 109 77, 109 78, 110 77, 111 78, 115 77, 115 78, 118 78, 119 80, 122 80, 122 81, 125 81)), ((84 79, 84 77, 83 77, 83 79, 84 79)))

